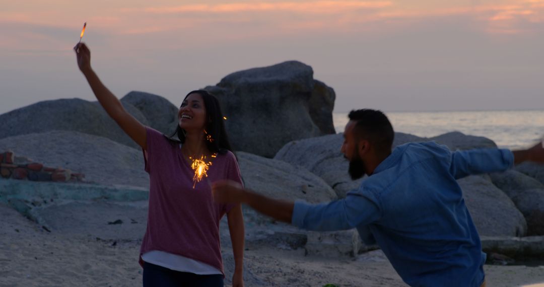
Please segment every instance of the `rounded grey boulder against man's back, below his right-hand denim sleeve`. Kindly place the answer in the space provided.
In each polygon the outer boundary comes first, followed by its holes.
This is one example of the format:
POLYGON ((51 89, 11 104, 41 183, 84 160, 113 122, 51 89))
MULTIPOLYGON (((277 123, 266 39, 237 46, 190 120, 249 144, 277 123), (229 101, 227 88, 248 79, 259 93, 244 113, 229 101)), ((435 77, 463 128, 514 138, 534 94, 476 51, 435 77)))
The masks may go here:
POLYGON ((482 176, 458 180, 478 233, 483 236, 524 236, 523 214, 504 192, 482 176))

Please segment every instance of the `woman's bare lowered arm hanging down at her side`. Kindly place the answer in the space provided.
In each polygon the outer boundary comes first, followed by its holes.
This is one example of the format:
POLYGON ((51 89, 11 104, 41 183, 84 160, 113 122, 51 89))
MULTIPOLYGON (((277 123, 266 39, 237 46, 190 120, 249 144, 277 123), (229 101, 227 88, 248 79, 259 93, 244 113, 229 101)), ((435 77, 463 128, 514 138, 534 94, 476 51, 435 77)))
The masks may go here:
POLYGON ((244 286, 244 216, 242 206, 237 204, 227 213, 228 230, 231 233, 232 252, 234 253, 234 274, 232 287, 244 286))

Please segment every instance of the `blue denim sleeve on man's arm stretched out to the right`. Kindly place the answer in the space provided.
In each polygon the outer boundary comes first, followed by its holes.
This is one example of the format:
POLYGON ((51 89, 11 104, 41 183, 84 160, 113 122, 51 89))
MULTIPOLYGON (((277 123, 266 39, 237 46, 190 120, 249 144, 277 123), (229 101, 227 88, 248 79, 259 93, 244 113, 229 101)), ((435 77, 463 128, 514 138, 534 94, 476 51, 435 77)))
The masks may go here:
POLYGON ((472 149, 452 153, 450 172, 459 179, 471 174, 505 171, 512 166, 514 154, 509 149, 472 149))

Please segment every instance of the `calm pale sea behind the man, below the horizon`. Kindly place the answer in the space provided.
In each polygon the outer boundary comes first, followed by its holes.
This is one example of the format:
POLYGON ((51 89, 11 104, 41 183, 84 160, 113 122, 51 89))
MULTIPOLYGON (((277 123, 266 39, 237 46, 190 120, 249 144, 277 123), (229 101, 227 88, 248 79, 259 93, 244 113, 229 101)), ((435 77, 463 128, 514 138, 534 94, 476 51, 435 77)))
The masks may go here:
MULTIPOLYGON (((334 113, 337 133, 348 122, 347 113, 334 113)), ((386 113, 395 132, 429 138, 448 132, 485 136, 499 147, 523 148, 544 135, 544 111, 443 111, 386 113)))

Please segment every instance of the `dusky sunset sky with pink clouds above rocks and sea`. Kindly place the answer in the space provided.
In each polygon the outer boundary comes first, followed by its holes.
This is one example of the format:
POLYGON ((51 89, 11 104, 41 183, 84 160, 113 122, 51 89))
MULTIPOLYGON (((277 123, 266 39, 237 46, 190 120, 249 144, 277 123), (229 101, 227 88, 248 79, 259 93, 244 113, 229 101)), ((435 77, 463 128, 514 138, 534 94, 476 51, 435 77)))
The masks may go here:
POLYGON ((175 105, 235 71, 299 60, 335 112, 544 109, 544 0, 0 0, 0 114, 94 95, 175 105))

